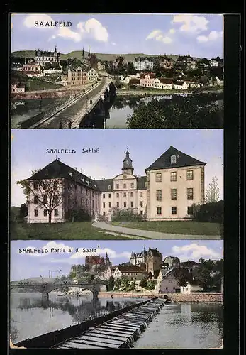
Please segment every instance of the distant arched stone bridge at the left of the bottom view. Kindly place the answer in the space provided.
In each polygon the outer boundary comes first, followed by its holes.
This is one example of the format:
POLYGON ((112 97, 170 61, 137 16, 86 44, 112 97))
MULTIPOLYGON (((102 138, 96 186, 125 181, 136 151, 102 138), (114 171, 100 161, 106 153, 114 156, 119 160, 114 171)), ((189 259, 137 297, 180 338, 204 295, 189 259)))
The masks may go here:
POLYGON ((50 292, 59 288, 76 287, 91 291, 91 293, 93 293, 93 298, 97 298, 101 285, 105 285, 105 283, 18 283, 10 285, 10 289, 26 288, 27 290, 35 290, 36 292, 42 293, 43 298, 48 298, 50 292))

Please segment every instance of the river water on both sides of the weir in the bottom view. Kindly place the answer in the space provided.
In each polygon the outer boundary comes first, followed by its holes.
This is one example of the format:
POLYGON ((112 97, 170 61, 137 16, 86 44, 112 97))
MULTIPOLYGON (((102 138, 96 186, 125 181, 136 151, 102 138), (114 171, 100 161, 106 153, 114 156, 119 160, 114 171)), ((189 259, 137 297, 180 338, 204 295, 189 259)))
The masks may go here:
MULTIPOLYGON (((39 293, 11 293, 13 343, 77 324, 94 315, 127 307, 138 298, 58 296, 43 300, 39 293)), ((184 303, 164 306, 133 344, 135 349, 208 349, 221 346, 223 305, 184 303)))

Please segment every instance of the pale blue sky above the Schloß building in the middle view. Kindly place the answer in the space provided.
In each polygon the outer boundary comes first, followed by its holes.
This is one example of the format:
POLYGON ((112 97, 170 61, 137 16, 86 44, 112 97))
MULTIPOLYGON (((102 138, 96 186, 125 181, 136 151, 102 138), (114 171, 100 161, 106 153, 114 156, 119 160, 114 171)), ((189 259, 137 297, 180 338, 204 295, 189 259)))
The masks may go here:
POLYGON ((26 202, 16 181, 29 178, 32 170, 44 168, 56 156, 91 178, 113 178, 121 173, 127 146, 135 175, 145 175, 145 168, 169 146, 206 162, 205 186, 216 176, 223 199, 222 129, 64 129, 59 134, 55 129, 13 129, 11 135, 11 206, 26 202), (74 149, 76 153, 45 153, 52 148, 74 149), (99 148, 100 153, 82 153, 83 148, 99 148))

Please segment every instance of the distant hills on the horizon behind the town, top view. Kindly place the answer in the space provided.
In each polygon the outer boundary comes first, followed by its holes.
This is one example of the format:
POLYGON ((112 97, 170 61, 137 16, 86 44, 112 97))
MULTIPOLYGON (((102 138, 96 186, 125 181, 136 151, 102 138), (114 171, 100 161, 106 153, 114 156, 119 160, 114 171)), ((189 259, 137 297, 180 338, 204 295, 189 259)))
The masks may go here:
MULTIPOLYGON (((86 56, 88 53, 84 52, 84 55, 86 56)), ((16 52, 11 53, 13 57, 21 57, 21 58, 34 58, 35 57, 35 51, 34 50, 18 50, 16 52)), ((126 54, 108 54, 108 53, 95 53, 96 58, 99 60, 114 60, 118 55, 123 55, 125 60, 128 62, 133 62, 134 58, 136 57, 157 57, 157 55, 150 55, 150 54, 144 54, 144 53, 126 53, 126 54)), ((173 60, 177 60, 179 55, 168 55, 168 57, 172 58, 173 60)), ((61 53, 61 60, 66 60, 68 58, 82 58, 82 51, 81 50, 74 50, 73 52, 63 54, 61 53)), ((195 58, 195 60, 199 58, 195 58)))

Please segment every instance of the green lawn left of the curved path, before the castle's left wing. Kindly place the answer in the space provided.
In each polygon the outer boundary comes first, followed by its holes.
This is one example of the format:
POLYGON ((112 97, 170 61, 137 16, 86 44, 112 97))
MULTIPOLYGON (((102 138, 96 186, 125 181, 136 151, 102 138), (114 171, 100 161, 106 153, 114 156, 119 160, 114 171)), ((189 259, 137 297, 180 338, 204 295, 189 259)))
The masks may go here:
POLYGON ((91 222, 11 224, 11 240, 130 240, 125 236, 113 236, 92 226, 91 222))

